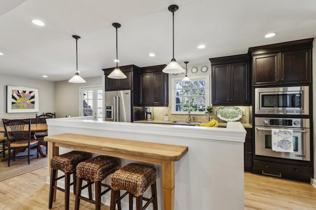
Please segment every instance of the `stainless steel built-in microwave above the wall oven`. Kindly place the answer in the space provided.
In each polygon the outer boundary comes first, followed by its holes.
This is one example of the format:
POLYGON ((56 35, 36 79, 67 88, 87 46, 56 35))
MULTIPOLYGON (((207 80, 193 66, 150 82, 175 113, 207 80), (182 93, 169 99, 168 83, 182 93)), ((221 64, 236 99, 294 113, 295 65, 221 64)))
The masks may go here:
POLYGON ((255 114, 309 114, 309 87, 255 89, 255 114))

